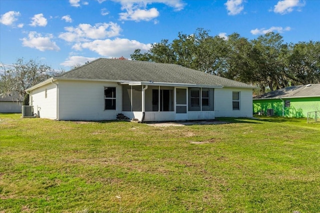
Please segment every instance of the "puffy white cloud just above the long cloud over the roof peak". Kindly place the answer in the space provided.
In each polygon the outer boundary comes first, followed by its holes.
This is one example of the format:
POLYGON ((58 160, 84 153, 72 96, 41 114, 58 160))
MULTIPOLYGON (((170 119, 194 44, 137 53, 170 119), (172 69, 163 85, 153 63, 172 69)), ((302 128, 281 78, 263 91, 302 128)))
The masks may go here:
POLYGON ((118 24, 96 23, 94 26, 81 23, 77 27, 64 27, 67 32, 59 34, 59 38, 68 42, 88 41, 89 39, 101 39, 105 37, 118 36, 121 28, 118 24))

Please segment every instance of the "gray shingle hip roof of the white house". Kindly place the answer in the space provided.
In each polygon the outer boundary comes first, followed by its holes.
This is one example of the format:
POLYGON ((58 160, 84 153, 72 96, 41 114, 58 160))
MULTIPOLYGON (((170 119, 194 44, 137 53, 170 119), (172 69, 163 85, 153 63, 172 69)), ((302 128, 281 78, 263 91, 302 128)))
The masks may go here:
POLYGON ((207 74, 176 64, 106 58, 98 58, 55 77, 255 88, 245 83, 207 74))

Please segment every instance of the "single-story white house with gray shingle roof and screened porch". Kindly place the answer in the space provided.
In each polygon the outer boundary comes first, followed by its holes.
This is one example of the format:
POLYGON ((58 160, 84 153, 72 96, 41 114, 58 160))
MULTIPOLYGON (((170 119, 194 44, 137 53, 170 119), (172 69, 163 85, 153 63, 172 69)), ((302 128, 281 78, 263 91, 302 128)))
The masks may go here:
POLYGON ((173 121, 252 117, 254 88, 175 64, 99 58, 26 91, 40 118, 173 121))

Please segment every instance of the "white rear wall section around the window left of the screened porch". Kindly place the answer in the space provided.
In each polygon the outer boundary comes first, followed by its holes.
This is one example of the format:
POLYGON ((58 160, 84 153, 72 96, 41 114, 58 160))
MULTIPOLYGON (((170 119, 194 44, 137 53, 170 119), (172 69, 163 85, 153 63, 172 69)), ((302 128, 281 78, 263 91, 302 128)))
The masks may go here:
POLYGON ((59 81, 59 120, 115 120, 122 112, 121 102, 117 83, 59 81), (104 87, 116 87, 116 110, 104 110, 104 87))

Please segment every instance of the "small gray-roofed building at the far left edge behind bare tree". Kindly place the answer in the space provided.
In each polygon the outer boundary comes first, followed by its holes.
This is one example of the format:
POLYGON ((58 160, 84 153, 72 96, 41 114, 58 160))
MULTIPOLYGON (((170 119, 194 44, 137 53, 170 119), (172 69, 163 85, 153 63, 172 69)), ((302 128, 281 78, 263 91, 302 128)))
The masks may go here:
POLYGON ((17 93, 2 96, 0 94, 0 113, 21 113, 23 96, 17 93))

